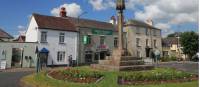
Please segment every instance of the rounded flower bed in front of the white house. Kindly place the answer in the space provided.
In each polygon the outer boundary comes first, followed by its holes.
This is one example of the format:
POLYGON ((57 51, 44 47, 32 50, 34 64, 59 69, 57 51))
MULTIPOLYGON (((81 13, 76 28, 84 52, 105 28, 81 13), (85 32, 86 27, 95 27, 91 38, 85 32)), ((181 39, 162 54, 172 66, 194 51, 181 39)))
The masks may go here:
POLYGON ((95 83, 103 77, 103 75, 97 71, 86 71, 73 68, 51 71, 48 75, 54 79, 78 83, 95 83))

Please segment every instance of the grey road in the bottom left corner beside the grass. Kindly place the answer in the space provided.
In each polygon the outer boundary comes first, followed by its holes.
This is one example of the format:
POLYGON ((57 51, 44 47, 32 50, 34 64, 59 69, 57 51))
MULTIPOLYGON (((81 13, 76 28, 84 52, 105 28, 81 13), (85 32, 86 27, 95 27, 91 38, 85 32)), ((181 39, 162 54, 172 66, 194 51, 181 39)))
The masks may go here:
POLYGON ((0 72, 0 87, 19 87, 19 79, 31 72, 0 72))

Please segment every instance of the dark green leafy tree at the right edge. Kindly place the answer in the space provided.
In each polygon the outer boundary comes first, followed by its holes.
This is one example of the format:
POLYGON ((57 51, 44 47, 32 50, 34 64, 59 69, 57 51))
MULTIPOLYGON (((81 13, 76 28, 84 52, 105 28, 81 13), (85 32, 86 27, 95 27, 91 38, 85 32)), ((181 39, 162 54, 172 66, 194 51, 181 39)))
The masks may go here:
POLYGON ((193 31, 184 32, 180 35, 180 43, 183 47, 183 52, 188 54, 191 59, 199 50, 199 35, 193 31))

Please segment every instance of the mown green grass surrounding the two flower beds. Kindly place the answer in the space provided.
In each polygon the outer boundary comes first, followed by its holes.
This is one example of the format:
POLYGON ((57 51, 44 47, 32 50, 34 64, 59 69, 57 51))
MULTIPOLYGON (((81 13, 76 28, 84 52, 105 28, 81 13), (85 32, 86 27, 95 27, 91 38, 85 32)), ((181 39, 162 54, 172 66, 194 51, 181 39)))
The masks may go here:
MULTIPOLYGON (((83 70, 91 70, 89 67, 79 67, 83 70)), ((122 86, 117 84, 118 72, 103 71, 104 79, 97 84, 81 84, 50 79, 45 72, 32 74, 22 79, 23 82, 35 87, 198 87, 198 81, 184 83, 165 83, 152 85, 122 86)))

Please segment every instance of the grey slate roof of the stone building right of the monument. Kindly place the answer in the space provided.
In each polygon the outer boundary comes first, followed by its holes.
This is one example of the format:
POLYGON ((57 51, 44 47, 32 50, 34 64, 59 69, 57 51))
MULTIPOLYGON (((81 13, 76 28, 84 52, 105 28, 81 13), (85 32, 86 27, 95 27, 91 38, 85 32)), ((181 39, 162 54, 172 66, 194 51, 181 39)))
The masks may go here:
MULTIPOLYGON (((151 26, 145 22, 139 21, 139 20, 128 20, 128 22, 125 24, 125 26, 132 25, 132 26, 140 26, 140 27, 148 27, 152 29, 159 29, 154 26, 151 26)), ((159 29, 160 30, 160 29, 159 29)))

